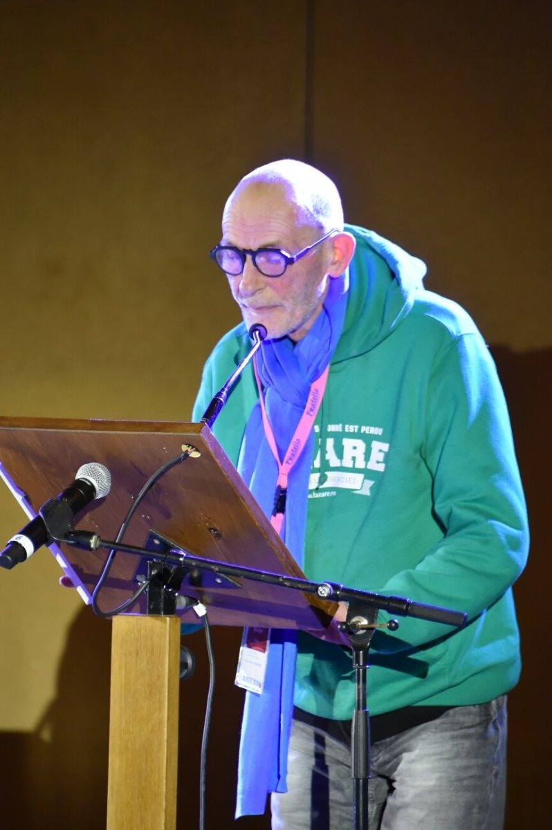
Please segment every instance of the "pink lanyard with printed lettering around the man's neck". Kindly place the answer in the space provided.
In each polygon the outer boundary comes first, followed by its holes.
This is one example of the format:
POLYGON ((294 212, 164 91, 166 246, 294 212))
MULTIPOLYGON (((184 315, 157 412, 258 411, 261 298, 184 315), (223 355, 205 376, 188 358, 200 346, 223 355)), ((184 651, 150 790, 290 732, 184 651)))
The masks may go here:
POLYGON ((283 461, 280 460, 274 432, 272 432, 272 427, 268 421, 268 417, 266 416, 265 401, 262 394, 261 379, 259 378, 259 373, 256 368, 256 360, 254 361, 254 367, 256 385, 259 388, 259 397, 261 398, 262 425, 265 428, 266 441, 268 442, 268 446, 271 448, 272 455, 275 457, 276 464, 278 465, 278 478, 276 480, 276 492, 274 494, 274 507, 272 508, 271 525, 273 525, 273 527, 276 528, 276 531, 280 533, 281 526, 284 522, 284 513, 286 511, 287 477, 290 475, 291 468, 294 466, 297 459, 300 457, 301 452, 305 448, 305 443, 315 422, 316 413, 318 413, 320 403, 322 403, 322 398, 324 397, 330 366, 326 366, 324 372, 320 375, 320 378, 315 380, 310 387, 305 410, 300 417, 300 422, 297 425, 294 436, 291 438, 290 446, 287 448, 283 461))

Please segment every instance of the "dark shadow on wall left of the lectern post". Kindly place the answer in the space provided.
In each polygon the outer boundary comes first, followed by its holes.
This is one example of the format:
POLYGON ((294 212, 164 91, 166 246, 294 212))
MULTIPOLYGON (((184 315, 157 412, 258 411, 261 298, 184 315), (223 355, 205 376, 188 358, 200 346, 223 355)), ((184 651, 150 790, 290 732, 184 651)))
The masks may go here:
POLYGON ((12 803, 2 828, 105 827, 110 639, 110 625, 83 608, 68 633, 56 699, 36 730, 0 734, 2 791, 12 803))

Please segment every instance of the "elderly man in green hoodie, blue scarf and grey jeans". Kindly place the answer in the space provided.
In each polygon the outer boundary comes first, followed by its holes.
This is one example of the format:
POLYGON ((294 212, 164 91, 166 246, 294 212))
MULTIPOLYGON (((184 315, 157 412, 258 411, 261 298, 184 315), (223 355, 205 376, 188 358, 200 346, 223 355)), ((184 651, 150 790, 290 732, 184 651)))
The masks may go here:
MULTIPOLYGON (((481 334, 424 290, 422 261, 344 226, 334 183, 297 161, 238 183, 211 256, 245 325, 208 359, 194 417, 265 325, 213 429, 307 577, 468 615, 461 630, 406 619, 374 635, 370 826, 501 828, 527 530, 481 334)), ((344 649, 272 632, 263 691, 247 692, 237 815, 273 793, 273 828, 348 828, 353 709, 344 649)))

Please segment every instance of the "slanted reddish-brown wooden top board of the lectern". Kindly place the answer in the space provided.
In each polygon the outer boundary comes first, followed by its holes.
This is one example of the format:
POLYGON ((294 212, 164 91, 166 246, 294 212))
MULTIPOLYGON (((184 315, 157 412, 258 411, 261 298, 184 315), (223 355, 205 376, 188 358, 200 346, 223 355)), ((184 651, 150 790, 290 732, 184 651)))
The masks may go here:
MULTIPOLYGON (((0 417, 0 476, 27 512, 56 496, 88 461, 111 473, 111 491, 77 517, 81 530, 113 540, 145 481, 167 461, 193 445, 193 457, 174 466, 141 502, 125 542, 143 545, 155 530, 193 556, 302 577, 295 559, 212 432, 204 424, 137 421, 69 421, 0 417)), ((86 601, 98 581, 107 551, 51 545, 56 559, 86 601)), ((37 554, 38 555, 38 554, 37 554)), ((99 605, 110 610, 136 588, 139 560, 117 554, 99 605)), ((244 580, 241 587, 188 588, 209 608, 213 625, 301 628, 342 642, 331 625, 335 603, 291 588, 244 580)), ((145 612, 145 596, 132 613, 145 612)), ((193 612, 188 612, 193 617, 193 612)))

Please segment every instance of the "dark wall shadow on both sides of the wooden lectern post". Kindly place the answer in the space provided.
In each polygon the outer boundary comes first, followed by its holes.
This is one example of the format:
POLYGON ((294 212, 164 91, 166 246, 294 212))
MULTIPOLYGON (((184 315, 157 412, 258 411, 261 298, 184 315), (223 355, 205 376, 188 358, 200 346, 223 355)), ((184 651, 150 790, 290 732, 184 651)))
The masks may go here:
MULTIPOLYGON (((207 827, 230 827, 236 794, 242 691, 234 686, 241 631, 212 632, 217 682, 208 751, 207 827)), ((110 623, 82 608, 69 631, 57 696, 32 733, 0 733, 2 830, 105 827, 109 747, 110 623)), ((198 827, 199 752, 208 692, 205 637, 185 637, 196 671, 181 684, 177 830, 198 827)), ((248 830, 268 817, 244 818, 248 830)))

